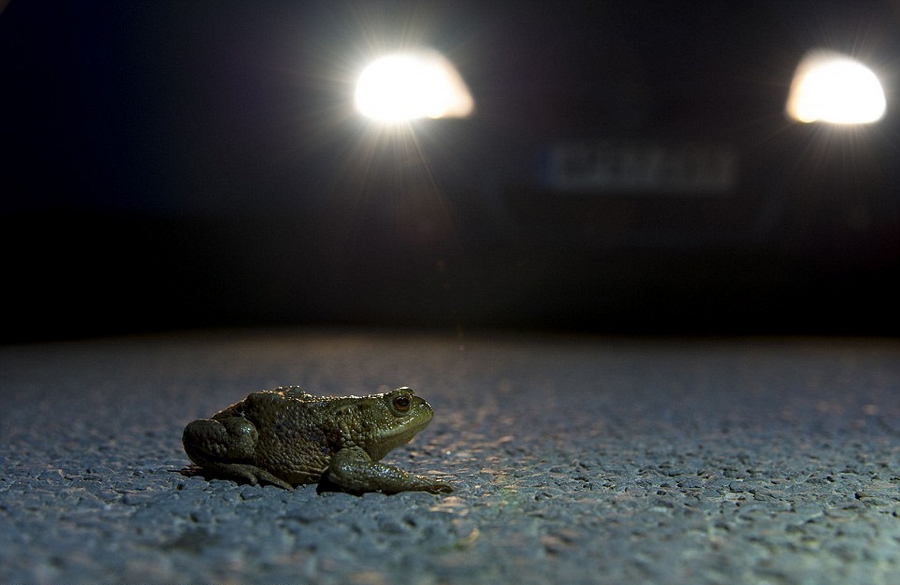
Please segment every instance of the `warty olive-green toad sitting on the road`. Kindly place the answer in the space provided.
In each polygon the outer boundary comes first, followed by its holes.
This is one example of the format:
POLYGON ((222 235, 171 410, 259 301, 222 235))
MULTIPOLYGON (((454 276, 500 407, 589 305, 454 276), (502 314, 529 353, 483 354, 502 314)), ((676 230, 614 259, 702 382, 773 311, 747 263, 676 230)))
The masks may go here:
POLYGON ((313 396, 297 386, 254 392, 184 429, 201 471, 285 489, 327 479, 351 492, 452 488, 380 463, 428 426, 431 406, 410 388, 369 396, 313 396))

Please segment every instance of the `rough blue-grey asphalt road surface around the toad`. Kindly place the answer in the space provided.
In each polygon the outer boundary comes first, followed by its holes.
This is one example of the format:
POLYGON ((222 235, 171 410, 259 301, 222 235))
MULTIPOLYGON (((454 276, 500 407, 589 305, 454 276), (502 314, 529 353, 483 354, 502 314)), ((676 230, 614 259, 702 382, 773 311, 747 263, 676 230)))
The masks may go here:
POLYGON ((0 347, 0 582, 900 583, 900 343, 352 331, 0 347), (185 476, 247 393, 409 385, 449 495, 185 476))

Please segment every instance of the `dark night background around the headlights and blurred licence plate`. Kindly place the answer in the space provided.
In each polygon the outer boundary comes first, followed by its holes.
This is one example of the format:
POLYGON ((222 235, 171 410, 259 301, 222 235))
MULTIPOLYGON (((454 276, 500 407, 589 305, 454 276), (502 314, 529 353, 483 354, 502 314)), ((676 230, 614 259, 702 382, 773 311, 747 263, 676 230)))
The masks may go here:
POLYGON ((900 3, 12 0, 2 341, 386 325, 896 335, 900 3), (378 135, 379 51, 476 103, 378 135), (814 48, 886 117, 790 122, 814 48), (561 142, 720 145, 727 193, 560 192, 561 142))

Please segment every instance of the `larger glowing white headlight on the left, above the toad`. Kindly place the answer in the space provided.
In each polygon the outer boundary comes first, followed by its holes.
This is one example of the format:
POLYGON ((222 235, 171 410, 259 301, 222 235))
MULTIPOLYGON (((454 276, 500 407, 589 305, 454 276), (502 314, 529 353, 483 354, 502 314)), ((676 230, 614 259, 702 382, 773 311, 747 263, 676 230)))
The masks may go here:
POLYGON ((456 67, 429 49, 375 60, 360 74, 354 97, 361 114, 381 122, 464 118, 475 105, 456 67))

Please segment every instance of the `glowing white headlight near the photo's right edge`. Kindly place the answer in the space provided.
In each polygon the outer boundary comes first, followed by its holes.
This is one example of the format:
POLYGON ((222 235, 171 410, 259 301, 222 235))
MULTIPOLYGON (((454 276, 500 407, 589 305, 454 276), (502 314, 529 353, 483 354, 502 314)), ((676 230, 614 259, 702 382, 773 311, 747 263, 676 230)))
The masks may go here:
POLYGON ((831 51, 804 56, 788 96, 788 115, 800 122, 870 124, 884 115, 881 83, 859 61, 831 51))

